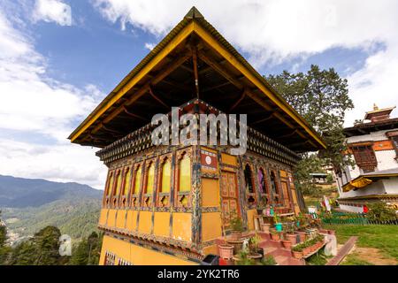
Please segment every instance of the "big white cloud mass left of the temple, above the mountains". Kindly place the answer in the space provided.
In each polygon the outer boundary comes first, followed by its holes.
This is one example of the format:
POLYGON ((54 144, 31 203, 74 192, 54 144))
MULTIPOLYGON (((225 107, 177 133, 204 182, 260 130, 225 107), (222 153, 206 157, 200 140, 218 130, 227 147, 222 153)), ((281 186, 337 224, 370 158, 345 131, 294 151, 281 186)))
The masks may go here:
POLYGON ((105 166, 95 149, 66 140, 103 98, 94 85, 75 88, 46 76, 46 61, 0 10, 0 174, 103 187, 105 166), (42 137, 42 143, 30 142, 42 137), (50 140, 52 142, 45 142, 50 140), (44 144, 47 143, 47 144, 44 144))

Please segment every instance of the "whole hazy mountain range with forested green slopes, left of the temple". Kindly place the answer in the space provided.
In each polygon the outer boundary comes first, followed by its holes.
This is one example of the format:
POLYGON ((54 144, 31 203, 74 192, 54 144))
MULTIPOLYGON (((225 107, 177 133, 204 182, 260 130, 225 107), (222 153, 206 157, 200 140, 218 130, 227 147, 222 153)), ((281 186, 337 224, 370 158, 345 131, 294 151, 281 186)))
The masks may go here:
POLYGON ((45 226, 57 226, 73 239, 96 231, 103 191, 78 183, 0 175, 0 210, 11 242, 45 226))

